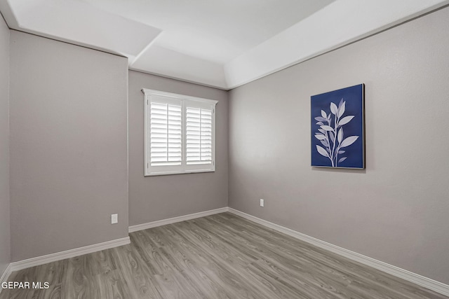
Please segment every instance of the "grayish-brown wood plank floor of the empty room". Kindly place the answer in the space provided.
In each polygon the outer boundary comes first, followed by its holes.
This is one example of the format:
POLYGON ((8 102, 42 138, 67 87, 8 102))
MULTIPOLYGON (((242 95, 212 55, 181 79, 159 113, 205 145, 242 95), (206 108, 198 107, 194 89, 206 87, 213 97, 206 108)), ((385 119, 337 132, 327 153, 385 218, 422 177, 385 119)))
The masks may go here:
POLYGON ((223 213, 130 234, 131 244, 18 272, 11 298, 447 298, 223 213))

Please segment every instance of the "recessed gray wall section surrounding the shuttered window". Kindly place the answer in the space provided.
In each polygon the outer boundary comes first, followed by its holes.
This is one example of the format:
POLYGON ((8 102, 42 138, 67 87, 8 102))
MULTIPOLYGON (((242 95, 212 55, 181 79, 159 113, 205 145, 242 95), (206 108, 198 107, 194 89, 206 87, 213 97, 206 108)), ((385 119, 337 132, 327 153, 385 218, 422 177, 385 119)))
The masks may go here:
POLYGON ((129 72, 129 223, 227 207, 227 92, 201 85, 129 72), (215 172, 143 176, 143 94, 149 88, 218 101, 215 115, 215 172))

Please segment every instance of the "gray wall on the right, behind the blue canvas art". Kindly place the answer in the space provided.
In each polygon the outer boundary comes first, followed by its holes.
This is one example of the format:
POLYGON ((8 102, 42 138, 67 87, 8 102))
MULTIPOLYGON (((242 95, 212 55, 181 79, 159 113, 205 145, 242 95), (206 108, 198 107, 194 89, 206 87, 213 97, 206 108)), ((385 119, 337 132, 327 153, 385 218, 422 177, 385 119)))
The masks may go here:
POLYGON ((443 8, 232 90, 229 206, 448 284, 448 20, 443 8), (310 96, 359 83, 366 170, 310 167, 310 96))

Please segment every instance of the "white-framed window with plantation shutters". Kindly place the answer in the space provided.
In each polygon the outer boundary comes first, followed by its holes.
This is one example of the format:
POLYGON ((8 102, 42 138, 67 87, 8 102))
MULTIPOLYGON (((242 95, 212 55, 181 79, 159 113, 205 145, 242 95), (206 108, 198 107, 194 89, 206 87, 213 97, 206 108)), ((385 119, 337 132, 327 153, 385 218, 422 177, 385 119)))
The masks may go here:
POLYGON ((217 101, 142 89, 145 176, 215 171, 217 101))

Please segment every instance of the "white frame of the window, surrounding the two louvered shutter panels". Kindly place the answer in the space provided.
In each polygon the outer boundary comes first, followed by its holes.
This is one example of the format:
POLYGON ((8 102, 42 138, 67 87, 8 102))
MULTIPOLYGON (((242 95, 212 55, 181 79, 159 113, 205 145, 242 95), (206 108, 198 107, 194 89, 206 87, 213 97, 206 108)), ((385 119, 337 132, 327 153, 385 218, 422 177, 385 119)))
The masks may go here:
POLYGON ((201 172, 215 172, 215 106, 218 101, 213 99, 204 99, 201 97, 192 97, 189 95, 180 95, 173 92, 163 92, 160 90, 151 90, 142 88, 144 94, 144 176, 163 176, 172 174, 192 174, 201 172), (150 123, 151 120, 151 103, 152 97, 163 97, 169 102, 180 102, 181 104, 181 127, 182 127, 182 145, 181 145, 181 165, 163 165, 152 166, 151 165, 151 136, 150 136, 150 123), (187 106, 193 108, 210 109, 212 111, 212 159, 210 164, 187 164, 187 118, 186 111, 187 106), (208 108, 205 108, 208 107, 208 108))

